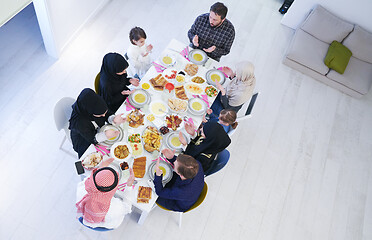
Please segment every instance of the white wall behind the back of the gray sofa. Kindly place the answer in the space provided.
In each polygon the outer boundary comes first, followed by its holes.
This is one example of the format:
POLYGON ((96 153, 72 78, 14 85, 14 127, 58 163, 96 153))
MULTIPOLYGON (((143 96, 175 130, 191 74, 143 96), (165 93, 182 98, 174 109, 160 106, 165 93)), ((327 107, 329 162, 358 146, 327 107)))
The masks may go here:
POLYGON ((372 32, 372 0, 295 0, 281 23, 297 28, 316 4, 372 32))

